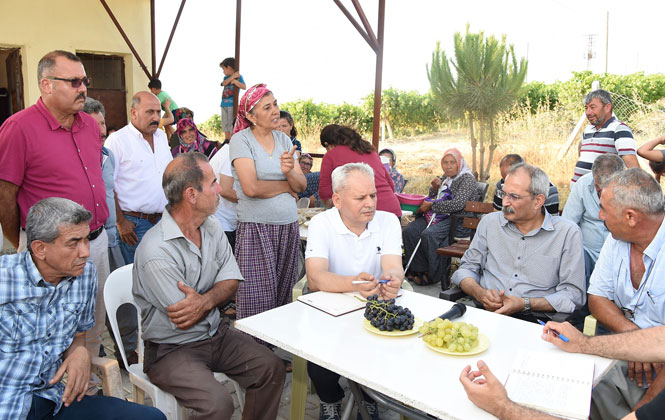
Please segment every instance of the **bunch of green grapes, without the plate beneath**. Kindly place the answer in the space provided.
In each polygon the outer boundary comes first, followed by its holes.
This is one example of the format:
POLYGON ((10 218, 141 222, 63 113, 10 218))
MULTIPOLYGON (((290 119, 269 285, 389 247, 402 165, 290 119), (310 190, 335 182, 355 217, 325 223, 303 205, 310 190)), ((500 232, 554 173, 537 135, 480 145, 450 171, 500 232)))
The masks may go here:
POLYGON ((478 327, 466 322, 436 318, 418 331, 429 345, 455 353, 471 351, 478 345, 478 327))

